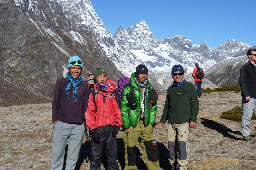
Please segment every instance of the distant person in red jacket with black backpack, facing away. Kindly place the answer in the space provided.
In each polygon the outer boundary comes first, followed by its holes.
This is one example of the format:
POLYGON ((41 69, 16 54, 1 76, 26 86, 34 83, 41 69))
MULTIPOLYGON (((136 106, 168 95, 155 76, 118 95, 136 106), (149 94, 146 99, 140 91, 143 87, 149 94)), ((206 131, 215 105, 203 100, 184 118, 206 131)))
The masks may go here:
POLYGON ((194 68, 192 77, 194 78, 195 81, 195 86, 196 86, 196 91, 197 91, 197 97, 201 98, 202 97, 202 81, 204 78, 204 70, 199 67, 198 63, 196 63, 196 68, 194 68))

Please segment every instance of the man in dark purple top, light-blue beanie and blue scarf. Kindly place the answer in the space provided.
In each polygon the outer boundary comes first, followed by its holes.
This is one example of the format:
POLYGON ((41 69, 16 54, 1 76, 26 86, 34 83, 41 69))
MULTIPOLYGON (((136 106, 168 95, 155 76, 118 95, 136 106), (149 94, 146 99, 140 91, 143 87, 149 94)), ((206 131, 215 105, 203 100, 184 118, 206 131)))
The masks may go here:
POLYGON ((61 170, 68 141, 66 170, 74 170, 84 139, 82 114, 88 84, 82 81, 83 62, 78 56, 68 60, 68 73, 58 79, 52 98, 52 160, 50 170, 61 170))

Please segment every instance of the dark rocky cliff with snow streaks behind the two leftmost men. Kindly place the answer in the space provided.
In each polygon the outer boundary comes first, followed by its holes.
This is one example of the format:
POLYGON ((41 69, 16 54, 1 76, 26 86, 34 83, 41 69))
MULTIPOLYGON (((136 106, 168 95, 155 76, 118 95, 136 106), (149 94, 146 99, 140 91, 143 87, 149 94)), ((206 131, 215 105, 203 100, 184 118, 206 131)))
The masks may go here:
POLYGON ((84 62, 83 79, 97 67, 106 68, 116 81, 121 76, 99 48, 93 29, 78 25, 56 1, 0 2, 1 78, 52 97, 73 55, 84 62))

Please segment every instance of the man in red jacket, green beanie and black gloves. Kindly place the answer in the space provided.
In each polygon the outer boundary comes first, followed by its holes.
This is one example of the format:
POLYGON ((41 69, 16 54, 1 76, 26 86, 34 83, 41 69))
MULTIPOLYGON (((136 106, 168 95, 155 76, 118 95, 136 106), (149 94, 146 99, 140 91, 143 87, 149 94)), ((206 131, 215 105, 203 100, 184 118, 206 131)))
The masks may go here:
POLYGON ((94 71, 94 86, 89 91, 88 108, 85 112, 87 127, 91 135, 90 170, 101 169, 102 151, 105 148, 109 170, 119 170, 117 162, 117 139, 122 126, 119 95, 116 82, 107 79, 104 68, 94 71))

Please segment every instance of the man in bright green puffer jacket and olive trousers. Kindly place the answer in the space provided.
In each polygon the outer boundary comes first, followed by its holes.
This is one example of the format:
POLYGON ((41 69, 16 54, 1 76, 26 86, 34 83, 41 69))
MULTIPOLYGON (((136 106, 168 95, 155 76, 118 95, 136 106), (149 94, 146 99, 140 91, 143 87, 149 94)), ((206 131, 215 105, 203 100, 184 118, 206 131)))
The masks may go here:
POLYGON ((151 90, 153 89, 153 86, 149 84, 147 76, 148 68, 145 65, 138 65, 136 72, 131 75, 130 85, 134 88, 134 100, 137 105, 135 110, 129 109, 129 103, 126 98, 127 93, 132 93, 129 86, 124 88, 121 97, 120 105, 123 128, 125 129, 123 133, 125 149, 127 144, 127 152, 125 151, 125 159, 127 160, 125 161, 128 165, 125 165, 125 170, 137 170, 134 148, 139 137, 145 146, 142 150, 147 169, 159 170, 158 148, 153 136, 153 125, 156 120, 157 111, 156 101, 154 104, 147 104, 147 102, 151 101, 151 99, 150 101, 148 100, 149 86, 151 86, 151 90))

